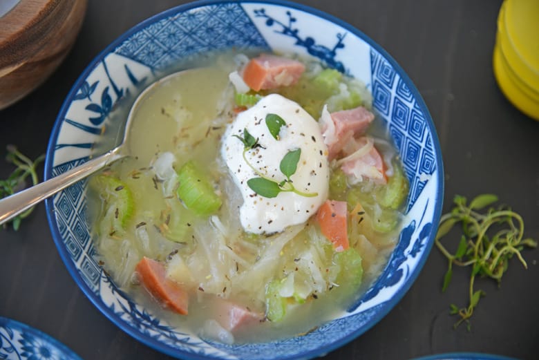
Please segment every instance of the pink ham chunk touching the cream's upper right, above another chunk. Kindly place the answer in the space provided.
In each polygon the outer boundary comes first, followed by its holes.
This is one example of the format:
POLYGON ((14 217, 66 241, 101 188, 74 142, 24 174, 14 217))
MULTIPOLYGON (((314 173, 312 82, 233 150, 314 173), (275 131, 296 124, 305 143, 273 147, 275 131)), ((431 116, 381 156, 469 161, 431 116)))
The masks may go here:
POLYGON ((375 115, 363 106, 352 108, 350 110, 336 111, 330 114, 333 126, 327 123, 322 127, 322 133, 325 134, 325 144, 328 146, 328 158, 333 160, 339 155, 343 146, 352 138, 363 135, 368 126, 375 120, 375 115), (332 133, 329 133, 329 132, 332 133))

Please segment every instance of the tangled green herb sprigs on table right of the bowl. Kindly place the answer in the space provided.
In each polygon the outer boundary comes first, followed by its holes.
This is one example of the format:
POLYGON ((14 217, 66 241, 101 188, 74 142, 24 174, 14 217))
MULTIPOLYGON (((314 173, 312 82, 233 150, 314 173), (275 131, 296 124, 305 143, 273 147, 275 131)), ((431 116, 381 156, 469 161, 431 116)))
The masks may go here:
POLYGON ((460 323, 466 322, 468 330, 471 330, 469 319, 480 298, 485 295, 483 290, 475 290, 476 276, 493 278, 500 283, 502 275, 509 266, 509 259, 516 256, 524 268, 527 268, 527 263, 520 252, 524 247, 537 247, 536 240, 523 238, 524 221, 511 209, 490 207, 485 214, 478 212, 497 201, 497 196, 483 194, 474 198, 470 205, 466 205, 466 198, 455 196, 453 202, 456 206, 440 219, 435 244, 448 259, 442 291, 445 291, 451 282, 453 265, 471 267, 468 306, 458 307, 451 304, 450 313, 460 316, 460 320, 454 325, 455 328, 460 323), (462 225, 463 234, 453 255, 442 245, 440 238, 448 234, 457 223, 462 225))

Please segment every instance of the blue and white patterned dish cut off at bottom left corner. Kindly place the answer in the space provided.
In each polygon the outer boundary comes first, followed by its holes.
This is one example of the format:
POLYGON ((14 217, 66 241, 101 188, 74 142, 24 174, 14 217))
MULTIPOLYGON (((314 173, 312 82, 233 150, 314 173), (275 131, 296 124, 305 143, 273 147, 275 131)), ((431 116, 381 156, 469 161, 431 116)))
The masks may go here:
POLYGON ((82 360, 44 332, 4 317, 0 317, 0 359, 82 360))

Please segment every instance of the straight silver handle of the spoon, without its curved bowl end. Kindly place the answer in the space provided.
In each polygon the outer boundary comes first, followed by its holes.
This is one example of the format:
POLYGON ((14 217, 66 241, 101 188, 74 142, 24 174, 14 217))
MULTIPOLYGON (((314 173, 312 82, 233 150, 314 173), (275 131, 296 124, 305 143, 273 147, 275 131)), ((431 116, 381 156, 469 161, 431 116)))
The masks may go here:
POLYGON ((74 184, 75 182, 90 176, 95 171, 103 169, 108 164, 124 158, 125 155, 120 153, 120 146, 104 153, 92 160, 88 160, 84 164, 79 165, 59 176, 55 176, 49 180, 41 182, 33 187, 29 187, 18 193, 14 193, 7 198, 0 200, 0 225, 4 222, 15 218, 23 211, 30 209, 41 200, 45 200, 49 196, 54 195, 58 191, 74 184))

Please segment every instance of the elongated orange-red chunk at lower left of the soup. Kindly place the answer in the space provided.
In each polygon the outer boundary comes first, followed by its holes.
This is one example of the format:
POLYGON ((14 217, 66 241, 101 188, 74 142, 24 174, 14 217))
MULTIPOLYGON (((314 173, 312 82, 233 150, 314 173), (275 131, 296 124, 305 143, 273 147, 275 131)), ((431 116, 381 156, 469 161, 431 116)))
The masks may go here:
POLYGON ((155 298, 178 314, 187 315, 189 295, 166 276, 164 265, 144 256, 135 267, 142 285, 155 298))

